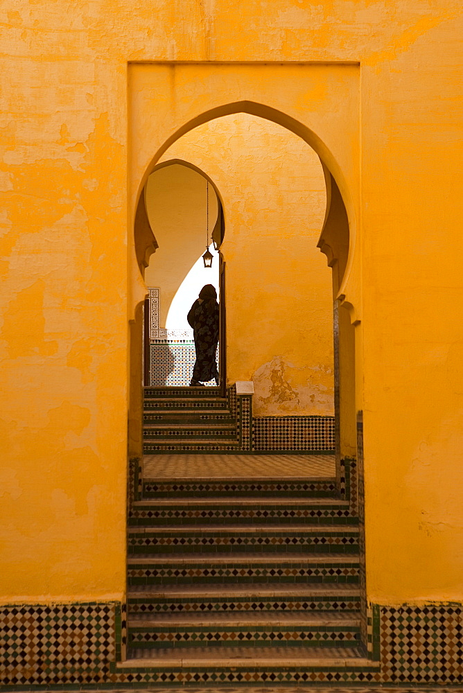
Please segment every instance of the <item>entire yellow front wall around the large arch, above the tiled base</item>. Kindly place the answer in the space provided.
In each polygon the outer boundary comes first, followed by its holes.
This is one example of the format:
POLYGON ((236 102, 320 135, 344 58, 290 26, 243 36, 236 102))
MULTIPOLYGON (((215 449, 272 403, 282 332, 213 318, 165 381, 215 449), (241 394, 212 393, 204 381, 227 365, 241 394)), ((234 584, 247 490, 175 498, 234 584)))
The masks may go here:
POLYGON ((346 202, 368 597, 461 602, 460 1, 3 0, 0 21, 2 601, 123 594, 137 195, 177 137, 245 110, 346 202))

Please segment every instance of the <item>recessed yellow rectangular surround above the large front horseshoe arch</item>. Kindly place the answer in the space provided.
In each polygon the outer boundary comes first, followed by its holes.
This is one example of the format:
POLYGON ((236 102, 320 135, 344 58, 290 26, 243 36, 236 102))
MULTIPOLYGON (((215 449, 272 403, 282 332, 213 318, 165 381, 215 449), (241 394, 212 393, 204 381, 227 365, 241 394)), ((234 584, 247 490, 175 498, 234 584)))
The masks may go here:
MULTIPOLYGON (((198 125, 238 112, 274 121, 294 132, 317 152, 333 175, 349 219, 349 259, 342 296, 355 306, 353 320, 358 321, 356 64, 130 64, 129 228, 133 228, 134 209, 146 179, 168 147, 198 125)), ((133 249, 131 255, 130 312, 146 294, 133 249)))

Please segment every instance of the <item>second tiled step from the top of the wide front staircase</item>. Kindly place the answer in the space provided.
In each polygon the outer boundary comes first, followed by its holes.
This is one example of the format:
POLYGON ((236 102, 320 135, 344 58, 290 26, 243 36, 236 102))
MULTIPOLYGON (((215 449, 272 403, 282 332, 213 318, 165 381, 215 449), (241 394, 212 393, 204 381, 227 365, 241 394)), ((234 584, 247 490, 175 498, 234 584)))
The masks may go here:
POLYGON ((129 525, 358 524, 344 500, 331 498, 159 498, 135 501, 129 525))

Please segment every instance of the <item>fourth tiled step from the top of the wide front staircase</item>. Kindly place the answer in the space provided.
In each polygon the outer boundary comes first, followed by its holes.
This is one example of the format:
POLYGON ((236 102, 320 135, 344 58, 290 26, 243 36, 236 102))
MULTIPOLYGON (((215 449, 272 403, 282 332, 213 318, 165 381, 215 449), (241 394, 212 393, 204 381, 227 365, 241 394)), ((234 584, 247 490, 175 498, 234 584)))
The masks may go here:
POLYGON ((213 561, 189 554, 128 557, 128 584, 358 583, 359 559, 335 554, 215 554, 213 561))

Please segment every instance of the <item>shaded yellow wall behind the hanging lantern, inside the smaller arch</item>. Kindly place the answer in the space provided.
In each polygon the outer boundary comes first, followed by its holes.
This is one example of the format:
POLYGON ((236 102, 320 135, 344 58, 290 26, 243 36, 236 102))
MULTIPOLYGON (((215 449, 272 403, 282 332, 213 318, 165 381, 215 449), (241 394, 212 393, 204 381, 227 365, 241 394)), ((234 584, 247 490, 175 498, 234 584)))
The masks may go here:
MULTIPOLYGON (((161 288, 160 327, 166 326, 177 289, 206 250, 206 186, 200 173, 180 164, 158 168, 146 183, 146 211, 159 248, 150 257, 145 282, 161 288)), ((209 185, 209 241, 216 219, 217 195, 209 185)))

